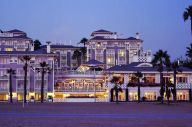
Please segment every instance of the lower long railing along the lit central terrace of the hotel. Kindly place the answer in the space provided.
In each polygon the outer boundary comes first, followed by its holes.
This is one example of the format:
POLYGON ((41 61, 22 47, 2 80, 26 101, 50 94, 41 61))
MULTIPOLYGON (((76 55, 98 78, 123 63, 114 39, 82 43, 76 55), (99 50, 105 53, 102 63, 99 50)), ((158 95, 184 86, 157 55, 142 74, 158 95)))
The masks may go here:
POLYGON ((55 92, 105 92, 104 88, 87 89, 87 88, 55 88, 55 92))

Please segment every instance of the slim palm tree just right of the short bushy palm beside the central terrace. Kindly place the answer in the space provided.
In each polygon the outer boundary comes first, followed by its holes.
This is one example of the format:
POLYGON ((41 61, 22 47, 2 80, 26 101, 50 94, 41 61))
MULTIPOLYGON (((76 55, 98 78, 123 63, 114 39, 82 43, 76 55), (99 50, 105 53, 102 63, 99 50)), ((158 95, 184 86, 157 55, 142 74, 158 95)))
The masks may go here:
POLYGON ((138 85, 138 91, 137 91, 137 96, 138 96, 138 103, 140 103, 141 100, 141 83, 140 83, 140 79, 143 77, 143 74, 140 71, 137 71, 137 73, 134 73, 134 77, 137 80, 137 85, 138 85))

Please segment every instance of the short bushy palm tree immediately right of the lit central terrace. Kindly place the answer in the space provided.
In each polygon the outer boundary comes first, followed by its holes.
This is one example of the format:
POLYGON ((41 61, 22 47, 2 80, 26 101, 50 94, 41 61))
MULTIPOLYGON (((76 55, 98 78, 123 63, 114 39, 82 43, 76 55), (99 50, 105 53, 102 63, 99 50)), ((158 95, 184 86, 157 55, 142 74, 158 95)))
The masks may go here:
MULTIPOLYGON (((113 78, 111 79, 110 81, 112 84, 114 84, 114 87, 112 88, 113 90, 115 90, 115 98, 116 98, 116 104, 119 103, 119 99, 118 99, 118 96, 119 96, 119 92, 122 92, 122 89, 119 85, 122 84, 122 81, 121 81, 121 78, 120 77, 116 77, 116 76, 113 76, 113 78)), ((112 91, 113 91, 112 90, 112 91)), ((113 94, 113 92, 112 92, 113 94)))

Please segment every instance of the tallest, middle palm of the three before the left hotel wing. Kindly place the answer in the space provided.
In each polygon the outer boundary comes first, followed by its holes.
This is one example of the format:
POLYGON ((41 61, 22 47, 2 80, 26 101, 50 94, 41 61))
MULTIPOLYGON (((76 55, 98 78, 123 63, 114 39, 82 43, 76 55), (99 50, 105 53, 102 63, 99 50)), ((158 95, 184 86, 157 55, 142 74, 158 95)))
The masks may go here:
POLYGON ((27 55, 25 55, 21 58, 21 61, 23 61, 25 63, 24 67, 23 67, 23 70, 25 72, 25 74, 24 74, 24 103, 27 102, 27 100, 26 100, 26 96, 27 96, 27 73, 28 73, 28 63, 30 60, 31 60, 31 57, 27 56, 27 55))

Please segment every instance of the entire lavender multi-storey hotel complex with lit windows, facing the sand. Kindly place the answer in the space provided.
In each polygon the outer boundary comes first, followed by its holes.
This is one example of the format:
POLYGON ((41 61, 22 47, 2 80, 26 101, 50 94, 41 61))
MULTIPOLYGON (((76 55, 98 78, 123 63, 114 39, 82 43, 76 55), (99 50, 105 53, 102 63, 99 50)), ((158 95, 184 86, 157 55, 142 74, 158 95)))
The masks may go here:
MULTIPOLYGON (((34 71, 39 63, 46 61, 52 68, 45 76, 45 99, 52 96, 53 102, 109 102, 115 101, 113 76, 123 79, 119 93, 120 101, 136 101, 137 85, 132 81, 133 73, 140 71, 145 81, 141 83, 141 98, 147 101, 158 99, 160 75, 151 65, 152 52, 143 50, 143 40, 136 37, 120 38, 116 32, 94 31, 86 43, 87 61, 72 59, 75 50, 81 47, 47 44, 35 50, 33 41, 19 30, 0 33, 0 100, 9 99, 9 78, 7 69, 16 70, 12 78, 14 100, 23 99, 24 63, 20 58, 29 55, 28 99, 40 99, 41 74, 34 71), (77 68, 78 67, 78 68, 77 68), (77 69, 75 69, 77 68, 77 69)), ((177 74, 177 100, 190 100, 192 70, 181 67, 177 74)), ((163 71, 165 84, 173 81, 173 72, 163 71)), ((172 97, 171 97, 172 98, 172 97)))

